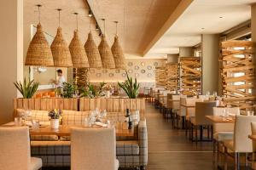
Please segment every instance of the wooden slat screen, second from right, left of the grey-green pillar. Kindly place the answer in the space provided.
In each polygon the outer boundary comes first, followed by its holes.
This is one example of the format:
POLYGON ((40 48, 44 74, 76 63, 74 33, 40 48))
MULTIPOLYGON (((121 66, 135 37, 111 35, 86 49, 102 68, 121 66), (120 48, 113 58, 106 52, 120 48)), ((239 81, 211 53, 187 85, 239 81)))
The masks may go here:
POLYGON ((181 57, 180 74, 182 94, 201 94, 201 57, 181 57))

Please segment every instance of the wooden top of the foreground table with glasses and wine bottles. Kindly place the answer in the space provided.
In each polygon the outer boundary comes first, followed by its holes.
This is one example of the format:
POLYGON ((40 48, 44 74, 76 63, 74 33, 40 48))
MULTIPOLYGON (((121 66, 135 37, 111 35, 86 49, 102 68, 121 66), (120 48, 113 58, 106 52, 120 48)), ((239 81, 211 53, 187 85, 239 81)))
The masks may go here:
MULTIPOLYGON (((15 127, 15 125, 7 124, 3 125, 4 127, 15 127)), ((53 129, 49 126, 39 127, 37 130, 33 130, 30 128, 29 133, 31 135, 57 135, 61 136, 70 136, 71 135, 71 128, 72 127, 83 127, 83 126, 67 126, 67 125, 60 125, 58 129, 53 129)), ((83 127, 83 128, 107 128, 107 127, 100 127, 100 126, 93 126, 93 127, 83 127)), ((134 136, 134 128, 128 129, 126 122, 118 122, 115 125, 115 133, 116 136, 127 136, 132 137, 134 136)))

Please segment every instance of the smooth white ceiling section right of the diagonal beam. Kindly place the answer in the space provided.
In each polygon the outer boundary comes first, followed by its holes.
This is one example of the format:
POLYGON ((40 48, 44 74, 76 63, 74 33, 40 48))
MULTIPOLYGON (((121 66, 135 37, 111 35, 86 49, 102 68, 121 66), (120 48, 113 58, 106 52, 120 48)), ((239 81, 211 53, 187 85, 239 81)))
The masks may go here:
POLYGON ((194 0, 145 54, 177 54, 178 47, 200 43, 201 34, 221 33, 250 20, 251 3, 256 0, 194 0))

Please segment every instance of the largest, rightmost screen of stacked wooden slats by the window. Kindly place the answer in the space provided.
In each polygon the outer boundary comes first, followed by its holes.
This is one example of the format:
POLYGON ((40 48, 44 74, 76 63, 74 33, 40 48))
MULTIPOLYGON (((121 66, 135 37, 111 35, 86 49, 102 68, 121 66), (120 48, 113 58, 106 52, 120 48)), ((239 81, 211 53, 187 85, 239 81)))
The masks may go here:
POLYGON ((221 42, 220 61, 224 103, 238 106, 241 110, 253 109, 255 96, 255 66, 253 64, 253 42, 221 42))

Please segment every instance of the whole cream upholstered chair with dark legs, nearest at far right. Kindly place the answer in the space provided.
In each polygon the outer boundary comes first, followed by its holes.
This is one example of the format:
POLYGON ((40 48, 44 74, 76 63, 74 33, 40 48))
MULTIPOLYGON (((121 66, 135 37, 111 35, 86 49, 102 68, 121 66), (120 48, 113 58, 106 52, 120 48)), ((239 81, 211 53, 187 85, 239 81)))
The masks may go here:
MULTIPOLYGON (((236 116, 234 137, 231 140, 224 140, 224 169, 228 168, 228 150, 234 153, 234 169, 240 169, 240 154, 253 152, 253 143, 248 139, 251 134, 251 122, 256 122, 256 116, 236 116)), ((246 159, 247 165, 247 159, 246 159)))

